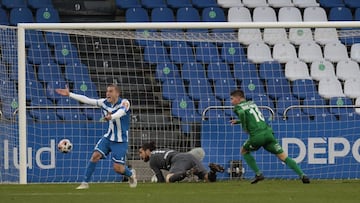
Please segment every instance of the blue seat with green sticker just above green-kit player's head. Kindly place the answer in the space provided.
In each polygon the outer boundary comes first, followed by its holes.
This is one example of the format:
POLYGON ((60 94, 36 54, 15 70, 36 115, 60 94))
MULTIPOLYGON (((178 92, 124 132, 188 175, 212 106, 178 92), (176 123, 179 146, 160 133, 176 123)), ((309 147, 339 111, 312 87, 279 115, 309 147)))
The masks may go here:
POLYGON ((265 94, 264 85, 259 78, 244 78, 241 80, 240 86, 248 99, 265 94))

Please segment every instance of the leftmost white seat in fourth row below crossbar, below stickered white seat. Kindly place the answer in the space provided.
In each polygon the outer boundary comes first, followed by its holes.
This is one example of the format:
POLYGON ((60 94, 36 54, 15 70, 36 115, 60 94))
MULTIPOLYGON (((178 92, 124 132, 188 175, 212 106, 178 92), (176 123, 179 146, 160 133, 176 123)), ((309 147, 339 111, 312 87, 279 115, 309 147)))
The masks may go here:
POLYGON ((325 99, 344 97, 340 81, 337 78, 325 78, 319 81, 319 95, 325 99))

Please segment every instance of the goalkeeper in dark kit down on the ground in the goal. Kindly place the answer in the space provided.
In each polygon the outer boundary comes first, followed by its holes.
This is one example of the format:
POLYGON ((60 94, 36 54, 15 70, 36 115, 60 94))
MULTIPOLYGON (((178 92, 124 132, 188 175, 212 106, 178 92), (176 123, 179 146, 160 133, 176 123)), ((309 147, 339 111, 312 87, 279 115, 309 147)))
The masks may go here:
POLYGON ((157 182, 174 183, 183 180, 189 175, 196 175, 200 180, 215 182, 216 173, 224 172, 220 165, 210 163, 208 172, 201 161, 192 153, 178 152, 171 149, 157 149, 155 142, 145 143, 139 149, 140 158, 150 163, 157 182), (161 170, 169 171, 164 175, 161 170))

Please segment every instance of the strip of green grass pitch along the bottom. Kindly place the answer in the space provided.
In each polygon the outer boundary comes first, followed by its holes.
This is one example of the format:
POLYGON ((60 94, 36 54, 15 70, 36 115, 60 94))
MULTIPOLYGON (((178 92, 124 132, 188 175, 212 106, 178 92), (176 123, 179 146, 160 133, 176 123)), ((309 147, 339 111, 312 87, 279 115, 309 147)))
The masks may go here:
POLYGON ((0 202, 26 203, 347 203, 360 202, 360 180, 247 180, 216 183, 92 183, 88 190, 77 184, 0 184, 0 202))

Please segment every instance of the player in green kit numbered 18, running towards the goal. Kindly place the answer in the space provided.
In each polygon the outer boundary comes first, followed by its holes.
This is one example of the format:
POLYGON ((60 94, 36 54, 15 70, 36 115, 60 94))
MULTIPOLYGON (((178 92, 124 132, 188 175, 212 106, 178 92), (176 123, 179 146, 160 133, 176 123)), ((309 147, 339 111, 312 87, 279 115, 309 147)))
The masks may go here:
POLYGON ((260 147, 272 154, 275 154, 289 168, 295 171, 303 183, 310 183, 309 178, 304 174, 296 162, 288 157, 278 141, 274 137, 272 128, 265 122, 264 116, 259 111, 258 106, 252 101, 246 101, 242 90, 234 90, 230 93, 231 104, 234 106, 234 112, 239 120, 231 120, 231 124, 241 124, 249 138, 241 148, 241 154, 246 163, 255 172, 255 179, 251 184, 264 180, 264 175, 258 168, 252 151, 257 151, 260 147))

